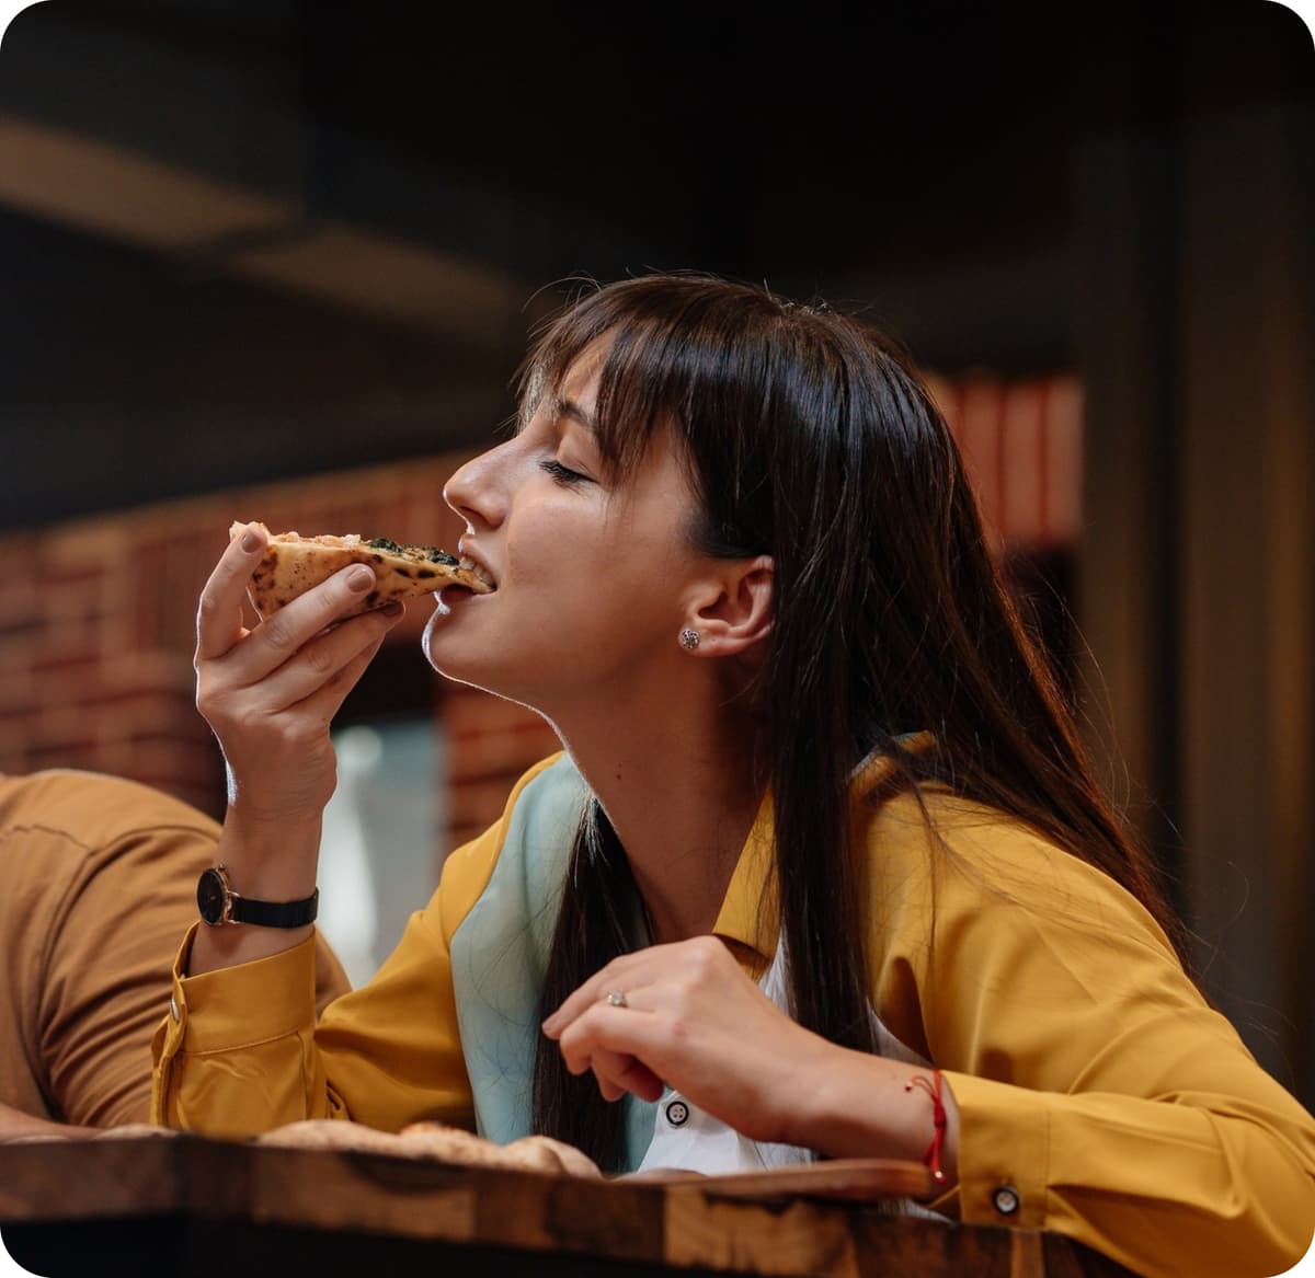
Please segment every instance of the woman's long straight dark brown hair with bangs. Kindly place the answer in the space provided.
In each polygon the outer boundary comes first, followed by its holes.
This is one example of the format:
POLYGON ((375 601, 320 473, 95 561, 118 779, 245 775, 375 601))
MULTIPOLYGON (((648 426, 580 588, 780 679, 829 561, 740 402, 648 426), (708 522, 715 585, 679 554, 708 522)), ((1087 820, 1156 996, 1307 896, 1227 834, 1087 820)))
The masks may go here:
MULTIPOLYGON (((521 371, 522 412, 555 394, 604 335, 605 464, 623 473, 669 427, 702 510, 696 544, 775 561, 760 780, 794 1018, 876 1051, 848 806, 852 772, 874 751, 915 793, 945 782, 1105 870, 1185 957, 1153 865, 1102 794, 1011 604, 959 450, 907 354, 826 306, 706 275, 642 276, 584 296, 543 331, 521 371), (932 749, 901 743, 919 731, 932 749)), ((594 803, 576 836, 544 1014, 633 944, 633 902, 625 851, 594 803)), ((573 1078, 547 1040, 534 1119, 619 1165, 621 1107, 590 1076, 573 1078)))

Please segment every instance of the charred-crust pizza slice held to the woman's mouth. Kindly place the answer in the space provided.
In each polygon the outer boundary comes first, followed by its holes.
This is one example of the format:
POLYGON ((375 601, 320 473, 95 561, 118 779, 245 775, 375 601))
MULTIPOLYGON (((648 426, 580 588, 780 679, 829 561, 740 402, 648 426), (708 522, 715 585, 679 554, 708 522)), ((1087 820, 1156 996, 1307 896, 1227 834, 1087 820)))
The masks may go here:
MULTIPOLYGON (((446 586, 462 586, 473 594, 488 594, 493 589, 480 568, 437 546, 398 546, 387 536, 358 534, 302 536, 300 532, 270 532, 263 523, 258 527, 264 529, 268 546, 251 575, 247 594, 262 618, 271 617, 348 564, 372 568, 375 589, 355 611, 345 614, 347 617, 446 586)), ((229 536, 239 536, 246 529, 246 523, 234 522, 229 536)))

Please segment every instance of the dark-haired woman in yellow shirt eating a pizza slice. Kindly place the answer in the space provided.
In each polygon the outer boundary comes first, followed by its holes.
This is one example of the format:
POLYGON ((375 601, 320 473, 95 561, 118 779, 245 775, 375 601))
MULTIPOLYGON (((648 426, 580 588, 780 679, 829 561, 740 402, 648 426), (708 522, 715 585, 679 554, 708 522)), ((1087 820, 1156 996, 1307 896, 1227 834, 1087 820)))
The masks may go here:
MULTIPOLYGON (((1141 1273, 1290 1265, 1315 1124, 1185 976, 901 355, 651 276, 564 313, 521 406, 446 490, 496 590, 444 592, 425 642, 564 753, 318 1027, 309 926, 195 930, 156 1119, 437 1116, 610 1169, 924 1157, 932 1210, 1141 1273)), ((199 705, 231 886, 293 902, 396 615, 330 625, 356 568, 247 632, 260 550, 201 597, 199 705)))

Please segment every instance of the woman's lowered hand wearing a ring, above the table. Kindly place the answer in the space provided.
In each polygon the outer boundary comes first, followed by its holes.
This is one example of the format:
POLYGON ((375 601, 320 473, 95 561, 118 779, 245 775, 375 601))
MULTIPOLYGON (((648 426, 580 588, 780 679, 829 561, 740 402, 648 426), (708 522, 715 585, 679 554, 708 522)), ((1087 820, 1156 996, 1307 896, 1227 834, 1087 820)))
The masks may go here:
POLYGON ((543 1032, 572 1074, 593 1070, 609 1100, 656 1100, 665 1083, 759 1141, 790 1140, 818 1072, 842 1051, 790 1020, 715 936, 613 960, 543 1032), (625 1006, 608 1002, 618 991, 625 1006))

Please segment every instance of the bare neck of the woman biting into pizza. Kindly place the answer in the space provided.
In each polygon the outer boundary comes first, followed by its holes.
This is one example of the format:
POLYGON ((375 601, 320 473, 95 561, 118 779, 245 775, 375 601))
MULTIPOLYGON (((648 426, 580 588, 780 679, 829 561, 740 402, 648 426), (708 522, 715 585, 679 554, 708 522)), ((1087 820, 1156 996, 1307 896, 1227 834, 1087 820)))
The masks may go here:
POLYGON ((757 815, 748 715, 718 697, 664 699, 647 715, 581 715, 558 723, 602 803, 643 895, 659 943, 710 932, 757 815))

